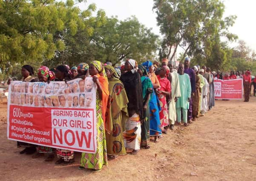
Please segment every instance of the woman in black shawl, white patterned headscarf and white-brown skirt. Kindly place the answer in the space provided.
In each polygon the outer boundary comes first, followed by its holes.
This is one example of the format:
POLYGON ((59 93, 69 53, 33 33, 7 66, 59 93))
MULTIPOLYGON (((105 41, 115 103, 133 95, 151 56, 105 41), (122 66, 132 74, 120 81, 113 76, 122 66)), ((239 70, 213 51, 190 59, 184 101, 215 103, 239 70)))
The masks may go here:
POLYGON ((141 76, 136 71, 137 62, 128 59, 125 62, 125 72, 121 75, 120 81, 129 100, 128 113, 129 119, 126 122, 126 131, 124 132, 125 147, 132 149, 131 154, 137 154, 141 144, 141 120, 144 120, 143 114, 143 96, 141 86, 141 76))

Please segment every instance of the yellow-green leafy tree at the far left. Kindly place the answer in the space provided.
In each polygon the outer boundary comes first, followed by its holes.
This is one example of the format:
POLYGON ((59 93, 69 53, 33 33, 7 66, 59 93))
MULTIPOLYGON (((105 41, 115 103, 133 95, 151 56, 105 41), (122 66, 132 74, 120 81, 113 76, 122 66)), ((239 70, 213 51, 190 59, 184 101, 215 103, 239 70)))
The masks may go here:
POLYGON ((14 64, 42 63, 64 50, 65 42, 56 32, 75 35, 86 27, 74 7, 55 0, 0 1, 0 68, 9 71, 14 64))

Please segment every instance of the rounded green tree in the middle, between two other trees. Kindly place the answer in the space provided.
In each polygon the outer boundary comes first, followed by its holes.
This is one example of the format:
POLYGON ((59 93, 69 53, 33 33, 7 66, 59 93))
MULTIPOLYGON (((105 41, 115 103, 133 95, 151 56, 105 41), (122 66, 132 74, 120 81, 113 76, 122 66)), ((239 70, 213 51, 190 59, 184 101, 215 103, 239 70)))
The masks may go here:
POLYGON ((101 26, 97 24, 96 21, 91 42, 97 50, 95 58, 100 61, 116 64, 123 58, 152 58, 158 48, 158 36, 135 17, 124 21, 111 17, 101 26))

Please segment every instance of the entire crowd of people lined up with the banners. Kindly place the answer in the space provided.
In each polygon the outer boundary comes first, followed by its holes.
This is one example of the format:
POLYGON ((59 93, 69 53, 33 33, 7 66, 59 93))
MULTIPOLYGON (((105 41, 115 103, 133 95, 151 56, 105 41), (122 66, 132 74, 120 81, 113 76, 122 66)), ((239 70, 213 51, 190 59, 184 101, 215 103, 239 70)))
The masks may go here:
MULTIPOLYGON (((230 74, 230 79, 237 76, 244 79, 245 93, 251 81, 249 72, 230 74)), ((125 64, 114 67, 110 62, 103 64, 100 61, 92 61, 89 65, 81 63, 71 69, 68 65, 51 70, 41 66, 37 77, 33 67, 24 65, 21 74, 21 81, 48 84, 92 77, 97 85, 97 150, 96 153, 82 153, 79 169, 95 171, 120 155, 135 155, 141 148, 149 149, 150 139, 154 143, 161 142, 168 129, 189 126, 199 116, 204 116, 215 105, 213 82, 216 78, 222 79, 220 72, 211 72, 209 67, 190 67, 190 58, 185 58, 178 69, 166 58, 161 65, 151 61, 138 65, 135 60, 127 59, 125 64)), ((25 147, 20 154, 35 153, 33 158, 47 153, 44 162, 52 162, 55 154, 59 158, 55 164, 75 161, 72 150, 24 142, 17 142, 17 146, 25 147)))

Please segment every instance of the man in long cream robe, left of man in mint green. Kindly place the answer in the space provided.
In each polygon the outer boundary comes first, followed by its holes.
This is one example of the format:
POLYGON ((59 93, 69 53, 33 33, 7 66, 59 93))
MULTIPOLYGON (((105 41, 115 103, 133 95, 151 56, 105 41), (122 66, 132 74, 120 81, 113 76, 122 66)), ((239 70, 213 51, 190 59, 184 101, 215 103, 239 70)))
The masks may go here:
POLYGON ((168 67, 170 68, 170 74, 172 78, 172 96, 169 102, 169 109, 168 109, 168 114, 169 114, 169 123, 170 123, 170 129, 174 129, 174 123, 176 120, 176 102, 178 100, 178 97, 181 97, 181 89, 180 89, 180 83, 178 80, 178 73, 174 71, 173 69, 173 64, 171 61, 168 62, 168 67))

